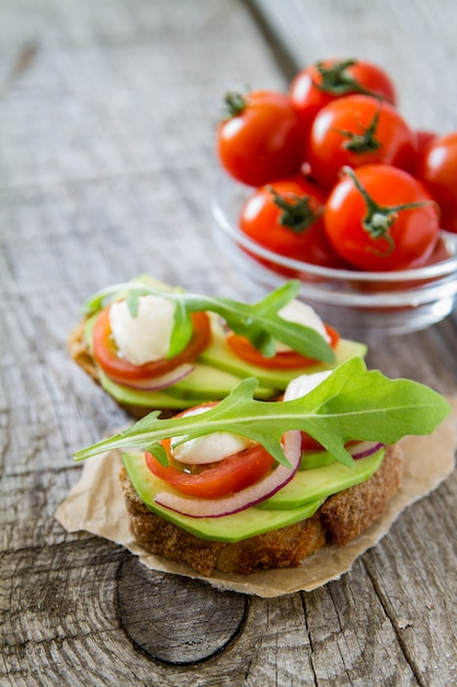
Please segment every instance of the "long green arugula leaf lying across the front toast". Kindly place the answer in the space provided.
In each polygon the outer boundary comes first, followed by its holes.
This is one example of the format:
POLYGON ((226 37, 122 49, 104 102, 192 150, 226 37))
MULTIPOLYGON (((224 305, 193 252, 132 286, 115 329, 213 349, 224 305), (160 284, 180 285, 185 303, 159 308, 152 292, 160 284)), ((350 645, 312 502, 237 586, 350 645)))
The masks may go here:
POLYGON ((78 451, 75 458, 84 460, 111 449, 140 449, 163 461, 162 439, 230 431, 259 441, 279 463, 288 465, 281 438, 287 430, 299 429, 338 461, 352 466, 353 458, 344 448, 347 441, 395 443, 405 435, 427 435, 450 412, 447 401, 432 388, 367 371, 361 358, 342 363, 301 398, 255 401, 256 386, 256 380, 243 380, 203 415, 159 419, 157 412, 151 413, 123 432, 78 451))

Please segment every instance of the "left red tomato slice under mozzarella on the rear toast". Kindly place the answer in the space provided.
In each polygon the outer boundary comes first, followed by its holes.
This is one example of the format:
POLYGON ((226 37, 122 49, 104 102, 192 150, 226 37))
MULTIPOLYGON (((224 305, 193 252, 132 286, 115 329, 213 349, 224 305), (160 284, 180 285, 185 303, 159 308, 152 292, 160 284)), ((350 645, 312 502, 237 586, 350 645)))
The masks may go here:
POLYGON ((160 376, 184 362, 195 360, 210 340, 209 318, 206 313, 193 313, 194 333, 187 346, 173 358, 161 358, 135 365, 119 357, 110 326, 110 307, 101 311, 92 330, 93 357, 103 372, 115 382, 141 381, 160 376))

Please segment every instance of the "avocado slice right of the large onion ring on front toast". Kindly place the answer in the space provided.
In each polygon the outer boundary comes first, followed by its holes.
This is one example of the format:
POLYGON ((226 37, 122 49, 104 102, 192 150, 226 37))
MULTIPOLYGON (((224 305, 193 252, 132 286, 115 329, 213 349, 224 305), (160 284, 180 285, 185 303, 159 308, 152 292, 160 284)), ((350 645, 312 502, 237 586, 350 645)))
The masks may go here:
POLYGON ((271 498, 259 504, 258 508, 287 509, 327 498, 332 494, 368 480, 382 462, 385 450, 354 461, 352 468, 339 462, 311 470, 300 470, 295 477, 271 498))

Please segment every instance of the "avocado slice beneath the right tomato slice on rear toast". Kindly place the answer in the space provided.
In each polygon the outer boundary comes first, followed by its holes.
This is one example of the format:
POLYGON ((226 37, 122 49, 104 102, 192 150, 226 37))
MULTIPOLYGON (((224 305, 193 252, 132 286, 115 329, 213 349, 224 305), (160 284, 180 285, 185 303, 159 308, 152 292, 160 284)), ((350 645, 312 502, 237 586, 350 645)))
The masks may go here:
POLYGON ((313 374, 323 370, 332 370, 350 358, 364 358, 367 351, 366 344, 340 339, 334 351, 335 360, 331 364, 317 362, 316 364, 295 370, 274 370, 253 365, 238 358, 226 341, 226 333, 219 318, 214 316, 212 316, 212 344, 199 357, 202 362, 240 378, 254 376, 261 385, 272 386, 279 391, 284 391, 287 384, 295 378, 300 376, 300 374, 313 374))

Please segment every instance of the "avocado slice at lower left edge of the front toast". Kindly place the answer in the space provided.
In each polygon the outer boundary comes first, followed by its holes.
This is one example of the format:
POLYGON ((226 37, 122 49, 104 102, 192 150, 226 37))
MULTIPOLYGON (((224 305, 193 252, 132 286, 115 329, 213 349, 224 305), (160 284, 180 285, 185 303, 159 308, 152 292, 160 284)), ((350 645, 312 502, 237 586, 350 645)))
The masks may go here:
POLYGON ((306 520, 322 504, 322 500, 316 500, 309 502, 299 508, 287 510, 247 508, 240 513, 221 516, 220 518, 191 518, 155 504, 155 496, 159 492, 170 492, 172 494, 178 494, 178 492, 151 473, 146 465, 142 453, 124 453, 123 461, 132 484, 149 510, 201 539, 226 542, 241 541, 255 534, 262 534, 263 532, 306 520))

